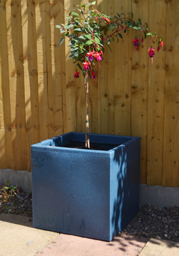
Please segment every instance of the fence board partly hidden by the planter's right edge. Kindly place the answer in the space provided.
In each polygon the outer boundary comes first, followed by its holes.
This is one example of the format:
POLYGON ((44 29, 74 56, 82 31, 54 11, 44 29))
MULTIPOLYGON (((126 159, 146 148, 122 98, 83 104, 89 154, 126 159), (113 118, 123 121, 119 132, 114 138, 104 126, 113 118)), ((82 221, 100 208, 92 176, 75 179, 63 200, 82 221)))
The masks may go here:
MULTIPOLYGON (((148 22, 149 2, 137 1, 133 2, 132 12, 137 20, 141 18, 141 22, 148 22)), ((141 137, 141 174, 140 182, 146 183, 147 178, 147 100, 148 100, 148 39, 141 44, 143 34, 136 32, 133 38, 138 36, 139 47, 136 50, 133 47, 132 52, 132 77, 131 77, 131 134, 132 136, 141 137), (144 46, 144 47, 143 47, 144 46)))

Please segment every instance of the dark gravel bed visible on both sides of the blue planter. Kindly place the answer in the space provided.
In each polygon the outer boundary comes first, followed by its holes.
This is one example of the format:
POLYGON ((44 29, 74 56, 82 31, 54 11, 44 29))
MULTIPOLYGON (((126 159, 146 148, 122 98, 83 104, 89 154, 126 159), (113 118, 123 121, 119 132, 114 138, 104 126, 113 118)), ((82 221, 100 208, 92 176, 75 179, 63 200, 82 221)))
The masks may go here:
MULTIPOLYGON (((1 212, 32 217, 32 194, 17 186, 0 185, 1 212)), ((138 215, 121 233, 179 242, 179 207, 141 205, 138 215)))

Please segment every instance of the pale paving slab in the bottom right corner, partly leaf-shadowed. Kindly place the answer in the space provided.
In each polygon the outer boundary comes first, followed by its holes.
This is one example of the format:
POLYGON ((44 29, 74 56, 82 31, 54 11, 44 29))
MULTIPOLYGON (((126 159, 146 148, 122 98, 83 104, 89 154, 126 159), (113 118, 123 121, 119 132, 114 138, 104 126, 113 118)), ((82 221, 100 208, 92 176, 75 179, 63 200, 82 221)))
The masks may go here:
POLYGON ((177 256, 179 255, 179 243, 151 238, 139 255, 177 256))

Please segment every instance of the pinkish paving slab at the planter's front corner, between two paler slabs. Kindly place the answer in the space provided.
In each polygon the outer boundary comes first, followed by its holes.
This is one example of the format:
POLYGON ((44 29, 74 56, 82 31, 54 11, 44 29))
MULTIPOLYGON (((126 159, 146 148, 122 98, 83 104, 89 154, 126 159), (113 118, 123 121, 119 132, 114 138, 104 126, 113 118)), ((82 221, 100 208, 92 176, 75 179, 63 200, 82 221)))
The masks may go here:
POLYGON ((147 238, 119 234, 111 242, 60 234, 36 256, 137 256, 147 238))

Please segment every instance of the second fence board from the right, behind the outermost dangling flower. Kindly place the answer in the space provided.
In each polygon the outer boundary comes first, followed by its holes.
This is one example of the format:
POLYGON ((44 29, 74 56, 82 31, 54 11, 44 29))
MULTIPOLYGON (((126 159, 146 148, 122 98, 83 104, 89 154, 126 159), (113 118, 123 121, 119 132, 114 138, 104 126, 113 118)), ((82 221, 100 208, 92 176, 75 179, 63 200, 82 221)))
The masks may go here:
MULTIPOLYGON (((150 1, 149 27, 158 31, 166 42, 166 5, 150 1), (156 19, 157 17, 157 19, 156 19)), ((147 136, 147 184, 162 185, 163 173, 163 136, 164 136, 164 100, 165 100, 165 51, 157 53, 155 48, 153 65, 149 59, 148 78, 148 136, 147 136), (155 148, 155 150, 154 150, 155 148), (157 171, 156 171, 157 170, 157 171)))

